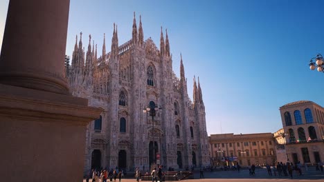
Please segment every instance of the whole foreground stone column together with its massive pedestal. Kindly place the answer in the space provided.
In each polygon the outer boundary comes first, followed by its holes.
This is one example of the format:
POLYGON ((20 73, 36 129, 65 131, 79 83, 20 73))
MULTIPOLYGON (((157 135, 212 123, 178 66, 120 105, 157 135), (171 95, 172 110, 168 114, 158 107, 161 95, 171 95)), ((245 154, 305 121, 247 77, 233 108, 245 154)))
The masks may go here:
POLYGON ((0 176, 82 181, 86 128, 102 109, 64 79, 69 0, 10 1, 0 57, 0 176))

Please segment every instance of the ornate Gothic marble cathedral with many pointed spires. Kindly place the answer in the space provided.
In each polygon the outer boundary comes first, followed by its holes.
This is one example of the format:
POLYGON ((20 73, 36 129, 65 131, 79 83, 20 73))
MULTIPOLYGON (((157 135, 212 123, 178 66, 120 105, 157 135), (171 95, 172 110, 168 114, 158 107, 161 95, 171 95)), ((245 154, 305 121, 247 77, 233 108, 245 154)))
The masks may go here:
POLYGON ((199 79, 196 83, 194 78, 191 101, 182 57, 180 78, 172 70, 168 32, 164 39, 161 28, 160 48, 143 38, 141 17, 137 28, 135 14, 132 39, 119 45, 114 25, 111 50, 106 53, 104 34, 100 57, 90 35, 87 52, 82 33, 79 43, 76 37, 71 66, 66 64, 70 90, 105 110, 87 127, 84 172, 116 166, 149 170, 152 163, 175 169, 210 163, 199 79), (143 112, 147 108, 156 110, 153 117, 152 111, 143 112))

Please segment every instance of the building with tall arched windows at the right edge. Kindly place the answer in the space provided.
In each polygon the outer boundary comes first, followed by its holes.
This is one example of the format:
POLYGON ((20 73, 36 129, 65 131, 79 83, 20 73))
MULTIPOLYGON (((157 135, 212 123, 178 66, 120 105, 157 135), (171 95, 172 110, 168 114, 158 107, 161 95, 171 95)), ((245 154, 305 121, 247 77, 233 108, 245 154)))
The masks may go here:
POLYGON ((312 101, 296 101, 280 107, 291 162, 324 161, 324 108, 312 101))

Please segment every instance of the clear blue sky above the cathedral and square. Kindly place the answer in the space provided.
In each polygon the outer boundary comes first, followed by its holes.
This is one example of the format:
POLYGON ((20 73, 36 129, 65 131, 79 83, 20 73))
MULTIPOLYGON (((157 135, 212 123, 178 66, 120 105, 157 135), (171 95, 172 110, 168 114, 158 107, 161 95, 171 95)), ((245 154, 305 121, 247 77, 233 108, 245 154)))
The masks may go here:
MULTIPOLYGON (((0 41, 8 0, 0 2, 0 41)), ((199 76, 208 135, 276 132, 279 107, 299 100, 324 105, 324 74, 309 59, 324 54, 324 1, 77 1, 71 0, 66 54, 75 34, 89 34, 110 51, 113 23, 119 44, 132 37, 133 12, 142 15, 144 39, 159 47, 168 28, 173 69, 183 56, 188 92, 199 76), (164 32, 165 34, 165 32, 164 32), (221 129, 222 128, 222 129, 221 129)), ((91 41, 92 42, 92 41, 91 41)))

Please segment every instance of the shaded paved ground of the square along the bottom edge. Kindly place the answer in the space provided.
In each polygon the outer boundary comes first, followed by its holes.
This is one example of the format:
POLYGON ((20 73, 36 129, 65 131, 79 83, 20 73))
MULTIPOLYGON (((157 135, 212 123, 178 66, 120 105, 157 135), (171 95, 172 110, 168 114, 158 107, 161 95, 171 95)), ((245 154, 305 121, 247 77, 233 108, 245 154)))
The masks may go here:
MULTIPOLYGON (((89 180, 92 181, 91 179, 89 180)), ((118 179, 116 180, 118 182, 118 179)), ((136 179, 122 179, 121 182, 136 182, 136 179)), ((296 172, 293 173, 293 179, 288 176, 269 176, 267 170, 255 170, 255 176, 249 175, 249 170, 237 171, 214 171, 204 172, 204 179, 199 179, 199 172, 195 172, 195 179, 183 180, 186 182, 212 182, 212 181, 324 181, 324 172, 316 171, 310 168, 308 171, 303 171, 303 175, 299 176, 296 172)), ((85 182, 85 180, 84 180, 85 182)))

